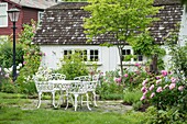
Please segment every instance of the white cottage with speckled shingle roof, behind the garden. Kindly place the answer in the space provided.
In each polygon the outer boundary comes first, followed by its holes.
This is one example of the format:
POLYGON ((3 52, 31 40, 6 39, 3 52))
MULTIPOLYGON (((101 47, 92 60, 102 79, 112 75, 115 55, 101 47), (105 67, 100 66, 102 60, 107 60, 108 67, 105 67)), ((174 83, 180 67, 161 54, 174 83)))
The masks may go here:
MULTIPOLYGON (((120 67, 118 48, 116 46, 100 46, 101 43, 116 43, 110 36, 97 37, 92 43, 87 43, 84 34, 82 19, 89 16, 81 7, 87 2, 61 2, 57 5, 45 10, 42 24, 36 32, 34 43, 40 44, 41 50, 46 54, 42 59, 42 65, 57 68, 59 59, 77 49, 82 50, 87 65, 95 63, 101 71, 114 70, 120 67)), ((164 7, 157 16, 161 18, 151 27, 155 43, 163 43, 164 36, 168 34, 175 24, 182 21, 182 35, 187 34, 187 14, 185 13, 179 0, 155 0, 154 5, 164 7), (183 16, 182 16, 183 15, 183 16)), ((165 47, 165 46, 163 46, 165 47)), ((128 44, 123 49, 123 55, 134 54, 128 44)), ((164 57, 167 63, 168 56, 164 57)), ((144 64, 146 59, 138 55, 138 59, 130 59, 125 66, 133 67, 135 63, 144 64)))

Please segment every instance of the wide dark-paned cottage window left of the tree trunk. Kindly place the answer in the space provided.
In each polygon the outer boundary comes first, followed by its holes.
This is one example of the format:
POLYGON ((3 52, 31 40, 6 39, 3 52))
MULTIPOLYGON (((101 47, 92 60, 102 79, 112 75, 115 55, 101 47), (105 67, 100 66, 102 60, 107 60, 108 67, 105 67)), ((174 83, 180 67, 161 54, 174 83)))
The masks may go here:
POLYGON ((79 53, 84 61, 99 61, 99 50, 98 49, 65 49, 64 57, 67 56, 70 58, 70 55, 74 53, 79 53))

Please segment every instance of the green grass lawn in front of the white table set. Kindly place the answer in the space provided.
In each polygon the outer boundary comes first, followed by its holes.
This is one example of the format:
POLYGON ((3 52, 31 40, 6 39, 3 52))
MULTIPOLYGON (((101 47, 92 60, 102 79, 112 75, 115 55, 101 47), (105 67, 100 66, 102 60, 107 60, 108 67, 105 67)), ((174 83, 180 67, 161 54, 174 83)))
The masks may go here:
POLYGON ((143 113, 125 114, 100 111, 73 111, 68 109, 33 109, 22 110, 30 104, 30 99, 22 94, 0 92, 0 124, 140 124, 143 113), (13 105, 13 106, 12 106, 13 105))

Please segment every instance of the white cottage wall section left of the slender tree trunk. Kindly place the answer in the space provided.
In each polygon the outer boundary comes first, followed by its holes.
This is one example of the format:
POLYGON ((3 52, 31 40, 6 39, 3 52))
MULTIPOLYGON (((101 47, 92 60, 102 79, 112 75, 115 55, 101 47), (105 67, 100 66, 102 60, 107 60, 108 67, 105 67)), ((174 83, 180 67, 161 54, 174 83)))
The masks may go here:
POLYGON ((50 68, 58 68, 59 59, 63 58, 64 49, 99 49, 100 60, 98 61, 98 69, 101 71, 114 70, 118 68, 118 50, 116 47, 101 46, 78 46, 78 45, 42 45, 41 50, 45 53, 42 59, 42 66, 50 68))

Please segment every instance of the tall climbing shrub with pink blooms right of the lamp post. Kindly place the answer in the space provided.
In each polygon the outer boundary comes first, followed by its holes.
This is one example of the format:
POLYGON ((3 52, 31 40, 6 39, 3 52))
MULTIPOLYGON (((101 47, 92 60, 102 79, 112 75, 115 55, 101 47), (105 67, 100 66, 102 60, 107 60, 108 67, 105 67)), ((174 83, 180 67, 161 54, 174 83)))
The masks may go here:
POLYGON ((23 27, 24 30, 19 34, 19 42, 24 46, 23 68, 20 70, 20 76, 16 79, 16 82, 21 87, 23 83, 30 82, 30 78, 32 78, 40 67, 42 56, 45 55, 32 42, 36 33, 36 22, 31 20, 31 25, 24 24, 23 27))

